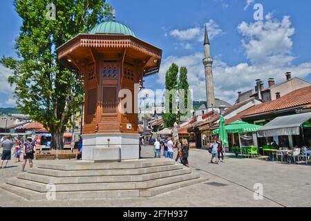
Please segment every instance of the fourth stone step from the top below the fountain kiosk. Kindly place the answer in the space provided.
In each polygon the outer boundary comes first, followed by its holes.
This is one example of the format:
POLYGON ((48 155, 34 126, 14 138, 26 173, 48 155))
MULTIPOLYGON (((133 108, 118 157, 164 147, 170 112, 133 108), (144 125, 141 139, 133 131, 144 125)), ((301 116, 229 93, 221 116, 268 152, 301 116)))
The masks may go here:
MULTIPOLYGON (((113 183, 89 183, 89 184, 55 184, 57 192, 71 192, 71 191, 104 191, 104 190, 135 190, 135 189, 149 189, 156 186, 173 184, 185 180, 192 180, 200 177, 198 173, 189 173, 185 175, 176 175, 173 177, 164 177, 156 180, 149 180, 144 182, 113 182, 113 183)), ((10 178, 7 184, 19 186, 30 189, 40 193, 46 193, 49 188, 47 184, 33 182, 29 180, 22 180, 18 178, 10 178)))

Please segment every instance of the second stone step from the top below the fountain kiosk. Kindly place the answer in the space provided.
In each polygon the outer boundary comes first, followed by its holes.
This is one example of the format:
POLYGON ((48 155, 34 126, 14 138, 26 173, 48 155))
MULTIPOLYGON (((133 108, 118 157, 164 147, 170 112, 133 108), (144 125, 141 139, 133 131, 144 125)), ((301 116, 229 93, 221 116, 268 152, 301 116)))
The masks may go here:
POLYGON ((59 171, 53 169, 28 169, 28 173, 38 175, 48 175, 51 177, 91 177, 104 175, 142 175, 147 173, 158 173, 162 171, 173 171, 182 169, 182 164, 173 164, 167 166, 153 166, 141 169, 111 169, 111 170, 88 170, 88 171, 59 171))

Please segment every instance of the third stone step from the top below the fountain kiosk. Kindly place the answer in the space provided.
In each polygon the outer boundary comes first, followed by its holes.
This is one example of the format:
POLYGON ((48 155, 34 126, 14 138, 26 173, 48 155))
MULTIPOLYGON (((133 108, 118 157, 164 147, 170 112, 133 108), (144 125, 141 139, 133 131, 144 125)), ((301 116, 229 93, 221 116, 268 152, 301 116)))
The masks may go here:
POLYGON ((172 171, 162 171, 157 173, 146 173, 142 175, 106 175, 106 176, 83 176, 83 177, 51 177, 32 173, 19 173, 17 178, 40 182, 44 184, 88 184, 103 182, 144 182, 164 177, 183 175, 191 173, 191 169, 185 167, 172 171))

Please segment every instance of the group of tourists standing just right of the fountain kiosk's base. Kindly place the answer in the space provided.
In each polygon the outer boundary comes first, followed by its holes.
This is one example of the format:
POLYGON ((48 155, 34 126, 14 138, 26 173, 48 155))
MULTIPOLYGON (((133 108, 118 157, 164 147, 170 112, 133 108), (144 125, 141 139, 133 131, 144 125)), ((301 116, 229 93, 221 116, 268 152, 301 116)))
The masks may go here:
POLYGON ((179 139, 175 143, 171 137, 164 140, 156 140, 154 143, 154 157, 161 157, 161 150, 163 149, 164 157, 173 159, 174 152, 176 151, 176 162, 180 162, 188 166, 189 145, 186 139, 179 139))

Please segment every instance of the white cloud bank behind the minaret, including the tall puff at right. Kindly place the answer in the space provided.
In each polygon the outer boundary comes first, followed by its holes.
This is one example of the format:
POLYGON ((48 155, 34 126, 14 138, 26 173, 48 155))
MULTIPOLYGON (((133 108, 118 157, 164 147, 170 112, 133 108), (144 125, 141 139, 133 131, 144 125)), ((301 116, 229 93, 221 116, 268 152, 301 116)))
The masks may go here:
MULTIPOLYGON (((262 79, 267 85, 267 79, 270 77, 274 77, 276 82, 285 81, 284 73, 287 71, 291 71, 293 77, 305 78, 311 74, 311 61, 292 64, 294 57, 291 37, 294 35, 294 28, 290 17, 285 16, 278 21, 269 15, 266 19, 255 23, 243 21, 238 25, 238 31, 243 37, 245 55, 250 62, 229 66, 220 59, 214 60, 216 97, 234 104, 238 91, 254 89, 255 79, 262 79)), ((194 90, 194 99, 205 100, 203 57, 200 52, 183 57, 167 57, 162 61, 158 82, 164 84, 166 70, 173 62, 178 66, 186 66, 190 88, 194 90)))

